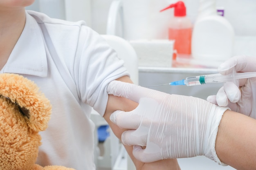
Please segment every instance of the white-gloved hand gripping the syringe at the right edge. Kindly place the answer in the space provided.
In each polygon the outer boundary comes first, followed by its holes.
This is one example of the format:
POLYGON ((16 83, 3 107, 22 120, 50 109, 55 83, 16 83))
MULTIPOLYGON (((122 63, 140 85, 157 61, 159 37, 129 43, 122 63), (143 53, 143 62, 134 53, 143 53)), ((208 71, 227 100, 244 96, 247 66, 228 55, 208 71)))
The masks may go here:
MULTIPOLYGON (((218 71, 222 75, 227 75, 234 69, 236 72, 256 71, 256 57, 232 57, 222 63, 218 71)), ((233 111, 256 119, 256 77, 239 79, 238 85, 234 82, 226 82, 217 95, 207 97, 207 101, 218 106, 228 106, 233 111)))

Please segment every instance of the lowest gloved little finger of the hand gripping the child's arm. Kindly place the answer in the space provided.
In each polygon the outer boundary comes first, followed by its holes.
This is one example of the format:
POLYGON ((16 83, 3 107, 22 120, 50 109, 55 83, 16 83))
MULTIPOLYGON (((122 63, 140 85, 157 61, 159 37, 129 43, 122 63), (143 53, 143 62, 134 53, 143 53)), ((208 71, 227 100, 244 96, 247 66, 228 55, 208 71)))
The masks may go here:
POLYGON ((155 158, 155 155, 145 153, 145 149, 141 146, 133 146, 132 155, 141 162, 149 163, 159 159, 155 158))

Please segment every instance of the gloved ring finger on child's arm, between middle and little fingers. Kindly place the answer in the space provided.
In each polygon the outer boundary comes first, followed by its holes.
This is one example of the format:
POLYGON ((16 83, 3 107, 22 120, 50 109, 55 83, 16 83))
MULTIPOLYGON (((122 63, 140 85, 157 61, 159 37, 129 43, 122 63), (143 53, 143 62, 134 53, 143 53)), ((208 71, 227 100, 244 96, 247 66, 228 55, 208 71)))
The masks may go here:
POLYGON ((141 134, 137 130, 127 130, 122 133, 121 139, 124 145, 146 146, 148 134, 141 134))

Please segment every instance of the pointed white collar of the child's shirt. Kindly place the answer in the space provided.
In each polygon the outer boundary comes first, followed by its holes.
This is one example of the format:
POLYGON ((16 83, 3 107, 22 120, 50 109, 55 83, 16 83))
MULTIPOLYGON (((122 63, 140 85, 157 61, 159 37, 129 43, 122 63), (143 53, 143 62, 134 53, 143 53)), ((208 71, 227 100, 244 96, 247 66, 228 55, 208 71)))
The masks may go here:
POLYGON ((25 27, 2 71, 47 76, 47 57, 43 35, 38 23, 27 11, 25 27))

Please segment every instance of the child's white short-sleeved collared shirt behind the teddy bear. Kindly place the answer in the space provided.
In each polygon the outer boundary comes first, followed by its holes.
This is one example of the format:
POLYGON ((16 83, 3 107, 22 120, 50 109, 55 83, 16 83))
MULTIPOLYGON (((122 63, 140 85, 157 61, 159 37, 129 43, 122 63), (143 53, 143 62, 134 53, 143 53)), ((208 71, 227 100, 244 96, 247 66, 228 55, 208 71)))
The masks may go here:
POLYGON ((95 169, 91 106, 103 116, 108 83, 128 75, 123 64, 84 22, 27 11, 25 28, 1 73, 31 79, 52 104, 49 126, 40 133, 38 164, 95 169))

